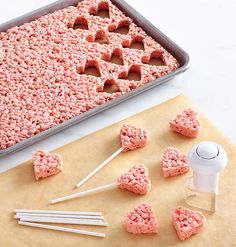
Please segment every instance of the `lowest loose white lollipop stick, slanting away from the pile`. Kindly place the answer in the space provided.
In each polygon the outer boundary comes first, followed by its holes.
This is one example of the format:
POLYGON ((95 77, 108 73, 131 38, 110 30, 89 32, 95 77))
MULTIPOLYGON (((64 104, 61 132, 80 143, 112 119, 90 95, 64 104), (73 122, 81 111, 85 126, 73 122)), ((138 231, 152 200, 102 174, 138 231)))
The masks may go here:
POLYGON ((38 223, 32 223, 32 222, 18 221, 18 224, 24 225, 24 226, 32 226, 32 227, 62 231, 62 232, 72 232, 72 233, 89 235, 89 236, 94 236, 94 237, 101 237, 101 238, 104 238, 106 236, 104 233, 100 233, 100 232, 90 232, 90 231, 78 230, 78 229, 73 229, 73 228, 51 226, 51 225, 38 224, 38 223))

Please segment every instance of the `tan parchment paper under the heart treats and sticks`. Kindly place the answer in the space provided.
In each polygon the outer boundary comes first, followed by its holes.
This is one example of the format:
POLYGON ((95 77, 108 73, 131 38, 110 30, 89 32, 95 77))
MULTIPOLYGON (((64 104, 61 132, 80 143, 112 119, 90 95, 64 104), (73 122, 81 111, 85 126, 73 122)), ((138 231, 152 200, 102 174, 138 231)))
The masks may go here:
POLYGON ((64 158, 64 169, 59 175, 37 182, 32 161, 0 174, 0 246, 236 246, 236 148, 202 114, 199 138, 189 139, 171 132, 169 120, 190 106, 189 100, 181 95, 57 149, 55 152, 64 158), (120 147, 119 129, 123 122, 149 130, 151 139, 148 145, 140 150, 120 154, 83 187, 75 189, 80 179, 120 147), (184 182, 191 173, 164 179, 161 157, 168 146, 187 152, 193 144, 207 140, 222 145, 229 156, 228 166, 220 176, 219 210, 214 214, 206 214, 207 223, 201 233, 181 242, 172 227, 171 211, 175 206, 186 206, 183 201, 184 182), (152 189, 146 196, 115 188, 68 202, 48 204, 50 199, 114 182, 135 164, 149 168, 152 189), (124 229, 123 216, 141 202, 148 202, 154 208, 160 224, 158 235, 132 235, 124 229), (101 211, 110 226, 64 225, 105 232, 107 236, 104 239, 19 226, 13 218, 15 208, 101 211))

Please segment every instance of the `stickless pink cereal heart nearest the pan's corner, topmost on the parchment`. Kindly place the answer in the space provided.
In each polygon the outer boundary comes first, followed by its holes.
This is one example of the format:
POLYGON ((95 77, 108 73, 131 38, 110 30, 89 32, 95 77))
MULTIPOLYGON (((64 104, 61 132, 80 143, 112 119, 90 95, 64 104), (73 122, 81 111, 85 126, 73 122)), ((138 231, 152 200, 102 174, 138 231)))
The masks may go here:
POLYGON ((192 109, 184 110, 170 121, 170 129, 184 136, 197 137, 200 130, 198 113, 192 109))

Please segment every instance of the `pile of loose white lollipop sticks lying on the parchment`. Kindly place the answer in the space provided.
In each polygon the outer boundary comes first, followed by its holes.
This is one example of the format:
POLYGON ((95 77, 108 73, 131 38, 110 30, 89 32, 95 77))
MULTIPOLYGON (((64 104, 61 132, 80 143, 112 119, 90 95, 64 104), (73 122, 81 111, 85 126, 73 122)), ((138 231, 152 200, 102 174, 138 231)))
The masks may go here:
POLYGON ((19 225, 71 232, 95 237, 105 237, 105 234, 42 223, 108 226, 108 223, 104 220, 101 212, 15 209, 14 218, 19 220, 19 225))

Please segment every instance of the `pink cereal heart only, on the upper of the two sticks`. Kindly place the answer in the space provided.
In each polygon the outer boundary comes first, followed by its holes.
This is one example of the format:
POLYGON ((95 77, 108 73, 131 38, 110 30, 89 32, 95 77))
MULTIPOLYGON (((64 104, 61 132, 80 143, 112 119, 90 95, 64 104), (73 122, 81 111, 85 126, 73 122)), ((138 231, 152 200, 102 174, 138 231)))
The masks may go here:
POLYGON ((121 146, 124 152, 142 148, 146 145, 149 133, 145 129, 136 128, 124 123, 120 129, 121 146))

